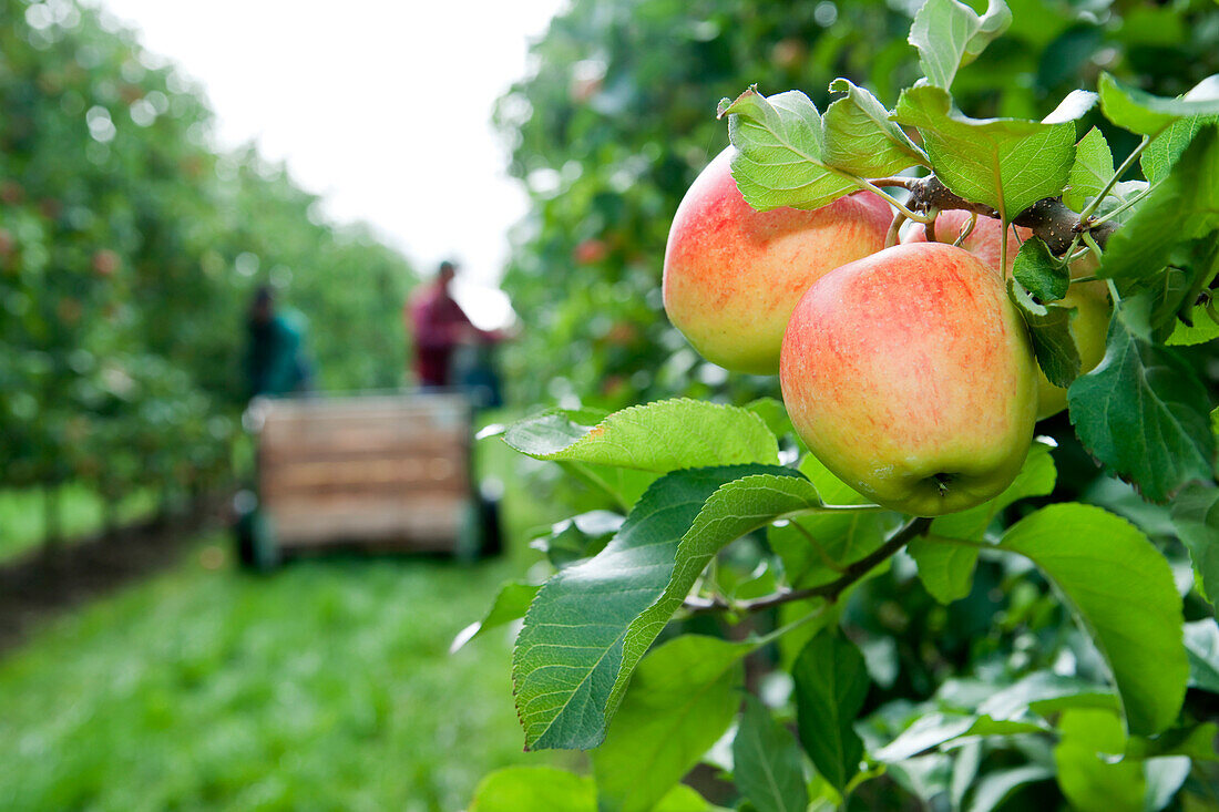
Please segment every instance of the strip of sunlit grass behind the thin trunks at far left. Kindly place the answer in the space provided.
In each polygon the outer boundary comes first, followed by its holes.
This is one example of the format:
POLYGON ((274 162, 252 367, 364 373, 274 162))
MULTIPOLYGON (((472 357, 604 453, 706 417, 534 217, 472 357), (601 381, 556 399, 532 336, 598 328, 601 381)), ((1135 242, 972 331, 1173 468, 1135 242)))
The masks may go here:
MULTIPOLYGON (((37 547, 46 536, 41 489, 0 491, 0 561, 37 547)), ((101 497, 79 483, 60 488, 60 510, 63 536, 76 539, 98 533, 105 524, 101 497)), ((117 510, 119 524, 147 518, 156 511, 156 495, 141 490, 122 500, 117 510)))

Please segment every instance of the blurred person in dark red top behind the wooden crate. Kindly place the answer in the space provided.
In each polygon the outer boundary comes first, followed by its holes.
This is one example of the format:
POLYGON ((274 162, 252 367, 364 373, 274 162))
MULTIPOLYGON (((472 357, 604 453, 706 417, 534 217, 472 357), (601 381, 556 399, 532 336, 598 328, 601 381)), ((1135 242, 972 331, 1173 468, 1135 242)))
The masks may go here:
POLYGON ((502 335, 480 330, 453 300, 450 285, 457 266, 440 263, 436 278, 417 289, 406 305, 406 328, 413 339, 414 374, 421 386, 449 386, 453 351, 463 344, 499 341, 502 335))

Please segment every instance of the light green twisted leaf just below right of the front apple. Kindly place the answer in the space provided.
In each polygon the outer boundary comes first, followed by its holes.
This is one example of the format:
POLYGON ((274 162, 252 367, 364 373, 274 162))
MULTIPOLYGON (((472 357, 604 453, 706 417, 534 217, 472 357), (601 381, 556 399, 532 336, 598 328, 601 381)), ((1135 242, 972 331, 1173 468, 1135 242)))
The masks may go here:
POLYGON ((1050 446, 1034 443, 1020 473, 1003 493, 978 507, 936 518, 929 535, 914 539, 906 547, 918 564, 919 580, 926 591, 941 604, 968 595, 979 549, 958 540, 981 539, 1000 511, 1020 499, 1048 495, 1054 489, 1056 479, 1050 446))

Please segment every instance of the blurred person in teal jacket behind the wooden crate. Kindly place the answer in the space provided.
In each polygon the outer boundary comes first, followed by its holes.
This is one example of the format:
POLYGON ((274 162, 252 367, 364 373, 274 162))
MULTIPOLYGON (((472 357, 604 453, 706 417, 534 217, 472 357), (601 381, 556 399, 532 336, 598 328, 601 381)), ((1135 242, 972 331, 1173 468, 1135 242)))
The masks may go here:
POLYGON ((250 396, 286 395, 308 389, 305 317, 275 310, 269 285, 260 285, 250 305, 246 374, 250 396))

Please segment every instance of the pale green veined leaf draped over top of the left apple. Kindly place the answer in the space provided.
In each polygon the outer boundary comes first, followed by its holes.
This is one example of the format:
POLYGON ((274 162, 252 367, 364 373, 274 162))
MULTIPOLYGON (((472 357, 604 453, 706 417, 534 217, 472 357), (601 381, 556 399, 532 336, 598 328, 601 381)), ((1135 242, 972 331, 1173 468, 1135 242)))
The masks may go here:
POLYGON ((820 208, 859 185, 823 157, 822 117, 808 96, 789 90, 763 96, 750 88, 719 102, 737 152, 733 178, 758 211, 780 206, 820 208))

